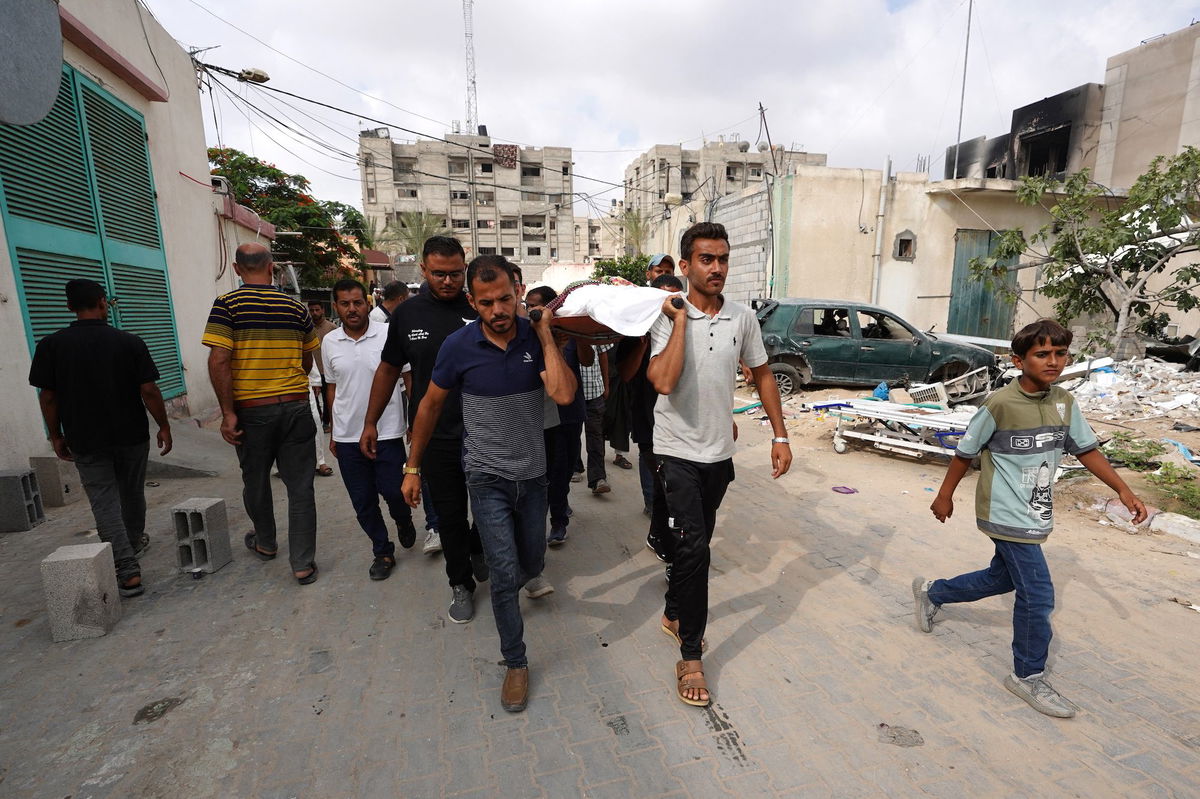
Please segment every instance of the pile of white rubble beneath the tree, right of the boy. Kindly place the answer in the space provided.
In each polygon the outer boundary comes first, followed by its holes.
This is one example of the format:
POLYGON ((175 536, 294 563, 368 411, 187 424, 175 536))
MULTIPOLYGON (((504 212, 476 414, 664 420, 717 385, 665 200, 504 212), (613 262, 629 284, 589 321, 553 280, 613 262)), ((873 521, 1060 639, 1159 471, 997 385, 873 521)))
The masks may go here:
POLYGON ((1182 370, 1152 358, 1117 361, 1064 388, 1092 419, 1200 417, 1200 372, 1182 370))

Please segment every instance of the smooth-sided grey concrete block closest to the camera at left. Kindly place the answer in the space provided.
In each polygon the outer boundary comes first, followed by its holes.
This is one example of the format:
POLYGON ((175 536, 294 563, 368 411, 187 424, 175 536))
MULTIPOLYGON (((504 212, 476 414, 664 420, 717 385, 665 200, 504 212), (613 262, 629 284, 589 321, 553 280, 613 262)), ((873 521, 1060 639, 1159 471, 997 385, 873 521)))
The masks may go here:
POLYGON ((59 547, 42 560, 42 588, 55 641, 98 638, 121 619, 113 545, 59 547))

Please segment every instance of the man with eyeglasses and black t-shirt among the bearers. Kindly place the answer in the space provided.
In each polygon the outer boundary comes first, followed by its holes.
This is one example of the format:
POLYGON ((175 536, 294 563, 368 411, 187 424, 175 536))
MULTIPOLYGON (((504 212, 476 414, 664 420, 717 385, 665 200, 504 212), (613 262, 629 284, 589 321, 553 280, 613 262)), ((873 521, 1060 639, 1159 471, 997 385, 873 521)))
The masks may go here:
MULTIPOLYGON (((392 398, 406 364, 412 365, 413 392, 408 403, 412 426, 430 388, 442 342, 479 314, 464 292, 467 259, 462 245, 451 236, 432 236, 421 248, 421 275, 426 284, 416 296, 398 305, 388 325, 388 341, 371 385, 371 401, 359 446, 376 457, 376 427, 392 398)), ((438 515, 438 533, 454 594, 450 620, 466 624, 475 614, 475 581, 487 579, 479 533, 467 521, 467 477, 462 468, 462 397, 448 396, 421 463, 438 515)), ((407 469, 406 469, 407 471, 407 469)))

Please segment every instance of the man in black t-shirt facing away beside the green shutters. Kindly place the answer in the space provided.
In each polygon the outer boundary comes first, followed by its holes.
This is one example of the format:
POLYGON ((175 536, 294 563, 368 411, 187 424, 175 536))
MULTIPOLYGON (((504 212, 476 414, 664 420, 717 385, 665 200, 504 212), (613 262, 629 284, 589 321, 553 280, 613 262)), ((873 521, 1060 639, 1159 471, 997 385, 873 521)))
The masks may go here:
POLYGON ((29 383, 41 389, 38 404, 54 453, 74 461, 96 531, 113 545, 121 596, 137 596, 145 590, 138 557, 150 545, 148 409, 158 423, 161 453, 172 445, 155 384, 158 370, 144 341, 108 325, 108 298, 100 283, 67 281, 66 294, 76 322, 38 342, 29 383))

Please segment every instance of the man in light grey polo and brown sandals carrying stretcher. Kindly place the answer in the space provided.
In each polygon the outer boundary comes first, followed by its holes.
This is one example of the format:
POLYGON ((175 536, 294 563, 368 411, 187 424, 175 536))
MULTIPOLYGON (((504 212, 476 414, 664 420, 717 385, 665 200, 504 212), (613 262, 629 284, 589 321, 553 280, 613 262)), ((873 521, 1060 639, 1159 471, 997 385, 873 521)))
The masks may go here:
POLYGON ((726 299, 730 271, 725 227, 700 222, 680 241, 679 269, 688 278, 683 307, 668 298, 650 328, 647 378, 661 395, 654 407, 654 456, 671 517, 673 554, 662 631, 679 643, 676 695, 686 704, 710 701, 701 653, 708 621, 709 543, 716 510, 733 481, 734 374, 744 361, 758 380, 762 408, 775 437, 772 476, 792 463, 779 389, 754 311, 726 299))

